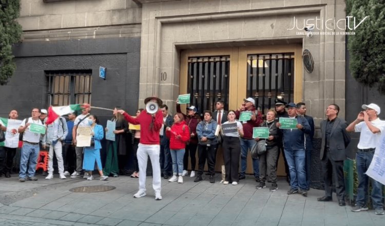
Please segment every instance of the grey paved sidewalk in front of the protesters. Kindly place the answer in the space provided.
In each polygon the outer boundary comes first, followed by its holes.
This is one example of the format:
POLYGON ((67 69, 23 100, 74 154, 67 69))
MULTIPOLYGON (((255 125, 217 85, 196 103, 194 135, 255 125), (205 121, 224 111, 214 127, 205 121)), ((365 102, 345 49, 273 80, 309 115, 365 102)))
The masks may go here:
POLYGON ((162 179, 163 200, 156 201, 152 178, 147 177, 147 196, 133 198, 138 179, 127 176, 92 181, 83 178, 66 180, 54 175, 51 180, 37 176, 38 181, 18 182, 0 178, 0 225, 365 225, 383 226, 385 215, 373 210, 354 213, 350 206, 318 202, 323 191, 311 189, 307 197, 287 195, 290 189, 284 179, 278 190, 257 190, 251 176, 238 185, 209 183, 208 177, 195 183, 184 177, 184 183, 162 179), (109 185, 116 189, 99 193, 74 193, 74 187, 109 185))

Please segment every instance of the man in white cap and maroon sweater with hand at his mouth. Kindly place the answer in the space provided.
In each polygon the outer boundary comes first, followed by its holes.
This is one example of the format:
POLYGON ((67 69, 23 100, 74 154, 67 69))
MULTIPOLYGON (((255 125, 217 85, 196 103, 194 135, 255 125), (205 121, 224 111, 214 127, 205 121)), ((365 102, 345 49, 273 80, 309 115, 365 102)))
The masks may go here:
MULTIPOLYGON (((251 111, 252 117, 250 120, 242 122, 243 124, 243 138, 241 139, 241 172, 239 173, 239 179, 245 179, 245 172, 247 168, 247 151, 251 149, 257 142, 253 138, 253 127, 258 127, 262 123, 261 112, 255 107, 255 100, 252 97, 243 99, 243 104, 235 111, 237 119, 239 119, 242 111, 251 111)), ((253 170, 254 177, 259 182, 259 161, 253 158, 253 170)))

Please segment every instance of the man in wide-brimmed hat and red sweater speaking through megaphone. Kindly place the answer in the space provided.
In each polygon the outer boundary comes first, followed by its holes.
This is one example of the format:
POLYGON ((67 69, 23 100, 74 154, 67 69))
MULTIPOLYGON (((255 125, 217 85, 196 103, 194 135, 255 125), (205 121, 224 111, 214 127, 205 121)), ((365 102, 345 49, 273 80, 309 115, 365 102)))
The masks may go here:
POLYGON ((148 97, 144 100, 146 109, 136 118, 128 115, 124 110, 118 110, 120 114, 131 124, 140 124, 140 142, 138 145, 139 165, 139 191, 133 195, 134 198, 146 196, 146 168, 147 159, 150 157, 152 164, 152 188, 155 191, 155 200, 161 200, 161 172, 159 164, 160 137, 159 131, 162 128, 163 116, 159 105, 163 101, 157 97, 148 97))

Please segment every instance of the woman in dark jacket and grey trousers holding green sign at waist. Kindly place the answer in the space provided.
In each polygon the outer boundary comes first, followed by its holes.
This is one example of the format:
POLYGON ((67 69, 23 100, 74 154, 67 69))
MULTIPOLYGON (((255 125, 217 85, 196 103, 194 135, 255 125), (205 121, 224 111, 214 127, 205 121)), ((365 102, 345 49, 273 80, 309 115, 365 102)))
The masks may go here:
MULTIPOLYGON (((276 122, 274 121, 277 113, 275 110, 268 110, 266 114, 266 121, 261 124, 261 127, 267 127, 268 137, 266 139, 266 152, 259 155, 259 185, 256 189, 263 189, 266 187, 266 176, 267 181, 272 182, 272 186, 269 191, 277 191, 277 159, 278 159, 278 128, 276 122)), ((261 140, 262 138, 255 138, 256 141, 261 140)))

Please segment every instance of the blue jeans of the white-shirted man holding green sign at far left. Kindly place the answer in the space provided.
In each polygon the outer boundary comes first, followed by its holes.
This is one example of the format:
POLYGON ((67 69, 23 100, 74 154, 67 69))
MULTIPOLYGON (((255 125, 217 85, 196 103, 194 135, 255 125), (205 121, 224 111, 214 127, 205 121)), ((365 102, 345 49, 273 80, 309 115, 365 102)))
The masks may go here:
POLYGON ((37 164, 37 156, 39 154, 39 145, 38 144, 28 144, 23 143, 22 152, 20 156, 20 178, 25 178, 27 176, 27 163, 28 167, 28 177, 34 177, 37 164), (29 162, 28 162, 29 160, 29 162))

